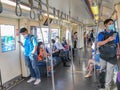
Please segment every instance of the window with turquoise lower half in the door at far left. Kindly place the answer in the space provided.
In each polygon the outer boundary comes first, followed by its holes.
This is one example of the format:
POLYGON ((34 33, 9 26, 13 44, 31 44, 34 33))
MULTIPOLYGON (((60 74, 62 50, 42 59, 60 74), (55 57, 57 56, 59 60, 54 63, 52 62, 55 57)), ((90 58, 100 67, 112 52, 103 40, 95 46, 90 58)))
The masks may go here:
POLYGON ((15 27, 12 25, 0 25, 0 31, 2 52, 15 50, 15 27))

